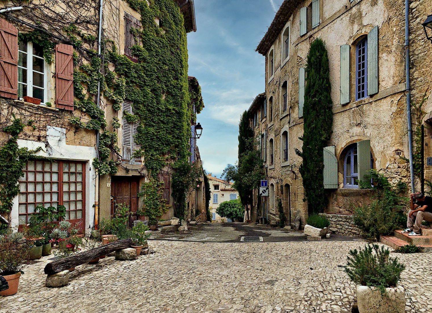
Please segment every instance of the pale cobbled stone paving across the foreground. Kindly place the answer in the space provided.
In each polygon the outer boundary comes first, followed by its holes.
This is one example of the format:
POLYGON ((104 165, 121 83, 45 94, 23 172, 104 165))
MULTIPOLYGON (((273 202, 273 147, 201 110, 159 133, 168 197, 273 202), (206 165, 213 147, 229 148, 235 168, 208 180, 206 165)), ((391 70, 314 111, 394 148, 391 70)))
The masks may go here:
MULTIPOLYGON (((152 240, 154 254, 77 266, 63 288, 44 287, 45 257, 27 266, 16 295, 0 298, 0 312, 350 312, 355 286, 338 265, 362 244, 152 240)), ((430 312, 432 253, 397 256, 416 308, 430 312)))

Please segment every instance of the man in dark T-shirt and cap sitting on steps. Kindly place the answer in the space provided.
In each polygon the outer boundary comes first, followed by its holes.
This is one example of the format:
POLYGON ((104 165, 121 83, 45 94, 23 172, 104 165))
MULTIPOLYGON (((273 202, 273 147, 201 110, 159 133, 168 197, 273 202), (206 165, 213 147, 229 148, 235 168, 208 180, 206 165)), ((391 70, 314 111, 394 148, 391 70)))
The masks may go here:
POLYGON ((422 221, 432 222, 432 198, 423 195, 421 192, 411 194, 410 211, 408 211, 407 229, 402 233, 408 233, 408 236, 421 236, 420 226, 422 221), (414 198, 416 204, 414 204, 414 198))

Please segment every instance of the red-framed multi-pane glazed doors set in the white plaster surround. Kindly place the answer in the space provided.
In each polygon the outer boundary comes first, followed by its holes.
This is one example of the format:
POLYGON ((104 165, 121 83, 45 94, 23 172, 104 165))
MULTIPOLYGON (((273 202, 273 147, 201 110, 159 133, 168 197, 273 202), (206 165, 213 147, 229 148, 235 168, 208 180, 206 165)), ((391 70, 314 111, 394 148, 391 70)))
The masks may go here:
POLYGON ((64 205, 65 220, 83 218, 84 169, 83 162, 28 161, 23 169, 24 177, 19 179, 19 224, 29 223, 38 205, 45 208, 64 205))

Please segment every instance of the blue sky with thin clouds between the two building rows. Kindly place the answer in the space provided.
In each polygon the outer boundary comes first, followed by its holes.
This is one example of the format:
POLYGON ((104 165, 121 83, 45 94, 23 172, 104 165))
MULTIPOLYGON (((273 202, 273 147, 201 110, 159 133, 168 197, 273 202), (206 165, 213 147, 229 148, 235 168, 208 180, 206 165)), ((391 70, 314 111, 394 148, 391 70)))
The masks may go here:
POLYGON ((220 177, 237 161, 238 121, 265 91, 265 58, 255 51, 283 0, 194 0, 197 32, 187 35, 189 75, 205 108, 198 139, 203 168, 220 177))

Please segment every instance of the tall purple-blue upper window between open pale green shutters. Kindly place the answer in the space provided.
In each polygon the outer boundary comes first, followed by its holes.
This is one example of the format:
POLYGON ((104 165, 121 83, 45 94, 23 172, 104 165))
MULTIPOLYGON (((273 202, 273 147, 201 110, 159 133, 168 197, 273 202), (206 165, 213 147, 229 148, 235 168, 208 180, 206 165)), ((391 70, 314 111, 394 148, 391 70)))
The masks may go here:
POLYGON ((368 40, 364 38, 356 46, 356 100, 368 95, 368 40))

